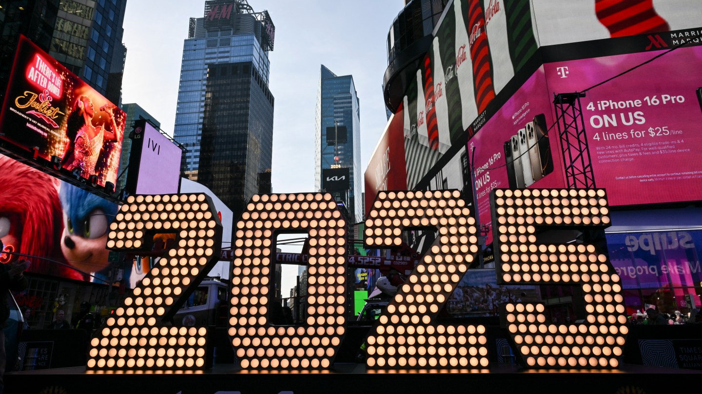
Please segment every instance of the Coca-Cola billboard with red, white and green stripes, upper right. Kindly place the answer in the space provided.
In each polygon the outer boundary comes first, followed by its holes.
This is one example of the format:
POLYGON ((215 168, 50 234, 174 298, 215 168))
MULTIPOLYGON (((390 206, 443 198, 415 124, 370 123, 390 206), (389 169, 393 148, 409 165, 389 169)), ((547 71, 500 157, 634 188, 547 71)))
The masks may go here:
MULTIPOLYGON (((416 73, 406 81, 402 104, 395 111, 404 123, 406 187, 428 186, 427 175, 436 170, 442 156, 456 144, 465 144, 496 110, 496 99, 501 104, 504 94, 519 88, 515 79, 523 80, 520 73, 531 74, 543 63, 539 48, 637 34, 650 36, 646 45, 654 49, 669 47, 671 43, 658 41, 656 34, 697 27, 697 15, 686 11, 695 4, 694 0, 452 1, 416 73)), ((701 33, 697 29, 685 34, 701 33)), ((563 56, 571 53, 564 51, 563 56)))

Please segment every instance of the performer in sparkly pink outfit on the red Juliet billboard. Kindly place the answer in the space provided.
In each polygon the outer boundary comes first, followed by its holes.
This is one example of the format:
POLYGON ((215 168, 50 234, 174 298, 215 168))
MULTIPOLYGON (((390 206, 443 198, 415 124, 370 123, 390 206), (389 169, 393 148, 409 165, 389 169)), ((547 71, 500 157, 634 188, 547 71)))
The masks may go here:
MULTIPOLYGON (((70 156, 73 156, 73 162, 66 168, 69 171, 74 168, 81 169, 81 177, 89 178, 95 175, 95 165, 98 163, 98 156, 105 142, 119 142, 119 129, 114 121, 113 104, 105 104, 100 107, 100 111, 104 111, 109 116, 109 121, 112 123, 112 132, 108 131, 102 125, 93 125, 93 116, 95 115, 95 107, 90 97, 81 95, 78 97, 76 107, 71 113, 72 117, 80 116, 78 127, 73 127, 74 130, 67 130, 67 135, 72 137, 75 135, 75 140, 72 147, 69 148, 64 155, 63 162, 65 163, 70 156), (82 123, 82 125, 80 125, 82 123), (77 129, 77 130, 76 130, 77 129)), ((69 121, 69 128, 72 122, 69 121)))

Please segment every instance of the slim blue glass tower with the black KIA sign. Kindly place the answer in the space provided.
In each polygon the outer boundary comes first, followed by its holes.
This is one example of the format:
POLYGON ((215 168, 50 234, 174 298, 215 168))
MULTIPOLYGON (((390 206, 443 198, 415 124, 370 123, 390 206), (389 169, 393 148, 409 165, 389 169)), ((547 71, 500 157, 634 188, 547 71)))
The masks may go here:
POLYGON ((317 189, 343 201, 353 222, 362 221, 360 111, 353 76, 336 76, 322 65, 314 129, 317 189))

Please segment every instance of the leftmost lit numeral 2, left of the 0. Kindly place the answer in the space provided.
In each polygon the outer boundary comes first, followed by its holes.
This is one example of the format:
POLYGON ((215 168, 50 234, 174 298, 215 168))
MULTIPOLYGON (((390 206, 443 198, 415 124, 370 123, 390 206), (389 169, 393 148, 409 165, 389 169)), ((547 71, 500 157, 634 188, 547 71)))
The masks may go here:
POLYGON ((177 244, 91 339, 88 369, 204 368, 206 327, 165 327, 161 321, 219 259, 222 225, 212 208, 205 194, 130 196, 121 206, 108 248, 134 252, 154 233, 176 233, 177 244))

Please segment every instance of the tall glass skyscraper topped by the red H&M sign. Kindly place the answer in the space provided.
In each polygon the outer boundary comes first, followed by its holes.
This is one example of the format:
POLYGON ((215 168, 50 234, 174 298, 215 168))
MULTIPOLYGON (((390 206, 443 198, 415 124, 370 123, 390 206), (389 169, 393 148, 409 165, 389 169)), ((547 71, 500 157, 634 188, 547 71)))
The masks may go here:
POLYGON ((204 184, 238 217, 256 193, 270 193, 274 98, 268 52, 275 27, 245 0, 205 2, 183 46, 175 139, 183 176, 204 184))

